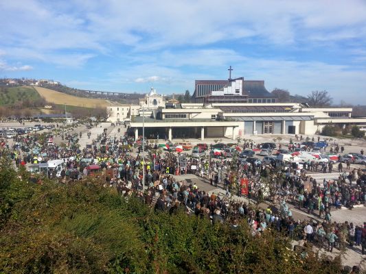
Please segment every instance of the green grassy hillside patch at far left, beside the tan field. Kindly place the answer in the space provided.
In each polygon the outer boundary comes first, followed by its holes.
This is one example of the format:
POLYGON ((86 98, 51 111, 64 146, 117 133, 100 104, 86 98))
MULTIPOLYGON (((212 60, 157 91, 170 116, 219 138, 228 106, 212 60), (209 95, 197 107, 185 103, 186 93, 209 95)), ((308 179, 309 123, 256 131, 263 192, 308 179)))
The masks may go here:
POLYGON ((12 105, 19 101, 35 101, 41 99, 41 96, 30 86, 16 86, 0 89, 0 105, 12 105))

